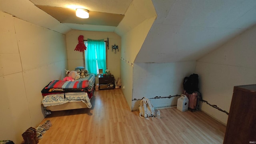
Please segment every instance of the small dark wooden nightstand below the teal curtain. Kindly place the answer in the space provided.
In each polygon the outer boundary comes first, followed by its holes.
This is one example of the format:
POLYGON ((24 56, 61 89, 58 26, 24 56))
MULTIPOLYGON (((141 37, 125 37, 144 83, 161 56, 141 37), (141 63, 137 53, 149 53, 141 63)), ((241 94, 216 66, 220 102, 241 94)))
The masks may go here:
POLYGON ((99 75, 99 90, 108 90, 115 88, 114 75, 102 76, 99 75))

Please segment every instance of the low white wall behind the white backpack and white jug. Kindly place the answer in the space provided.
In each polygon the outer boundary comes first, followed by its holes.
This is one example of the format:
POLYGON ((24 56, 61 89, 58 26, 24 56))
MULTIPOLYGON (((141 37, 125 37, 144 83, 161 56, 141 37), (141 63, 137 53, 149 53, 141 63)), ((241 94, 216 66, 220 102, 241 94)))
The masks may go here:
MULTIPOLYGON (((133 72, 132 110, 138 110, 143 97, 154 98, 180 95, 183 93, 183 79, 193 74, 196 62, 135 63, 133 72)), ((152 99, 156 108, 177 105, 177 99, 152 99)))

